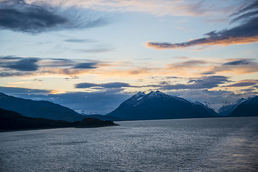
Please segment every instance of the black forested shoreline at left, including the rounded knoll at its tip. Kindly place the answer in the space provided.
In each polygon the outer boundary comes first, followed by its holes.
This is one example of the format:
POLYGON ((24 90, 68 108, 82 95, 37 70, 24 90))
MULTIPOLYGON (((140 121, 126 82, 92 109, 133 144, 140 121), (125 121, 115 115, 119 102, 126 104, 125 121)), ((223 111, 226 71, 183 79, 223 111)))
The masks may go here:
POLYGON ((24 130, 38 128, 60 127, 98 127, 116 125, 113 121, 103 121, 97 118, 85 118, 81 121, 68 122, 64 120, 50 120, 46 118, 33 118, 23 116, 11 110, 0 108, 0 130, 24 130))

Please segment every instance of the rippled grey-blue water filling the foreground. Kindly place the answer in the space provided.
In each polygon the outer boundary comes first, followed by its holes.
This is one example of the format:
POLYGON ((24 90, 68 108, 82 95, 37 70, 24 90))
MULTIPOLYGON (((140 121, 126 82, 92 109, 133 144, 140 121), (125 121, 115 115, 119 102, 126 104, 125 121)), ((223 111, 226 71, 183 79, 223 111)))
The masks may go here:
POLYGON ((0 171, 258 171, 258 117, 0 133, 0 171))

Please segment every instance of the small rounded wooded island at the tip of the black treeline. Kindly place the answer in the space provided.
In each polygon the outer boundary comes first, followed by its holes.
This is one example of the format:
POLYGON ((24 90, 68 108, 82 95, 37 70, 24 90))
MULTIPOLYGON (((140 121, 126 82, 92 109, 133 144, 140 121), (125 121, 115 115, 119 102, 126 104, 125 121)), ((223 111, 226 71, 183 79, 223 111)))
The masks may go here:
POLYGON ((79 125, 75 128, 94 128, 94 127, 107 127, 107 126, 120 126, 110 120, 100 120, 98 118, 84 118, 79 125))

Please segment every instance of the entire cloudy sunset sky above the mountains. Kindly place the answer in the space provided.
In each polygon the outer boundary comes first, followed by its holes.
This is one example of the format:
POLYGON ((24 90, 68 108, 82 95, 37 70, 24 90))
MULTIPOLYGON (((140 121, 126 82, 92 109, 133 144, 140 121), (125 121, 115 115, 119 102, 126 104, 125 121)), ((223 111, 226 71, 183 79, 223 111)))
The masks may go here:
POLYGON ((0 0, 0 92, 109 113, 141 91, 258 95, 258 1, 0 0))

